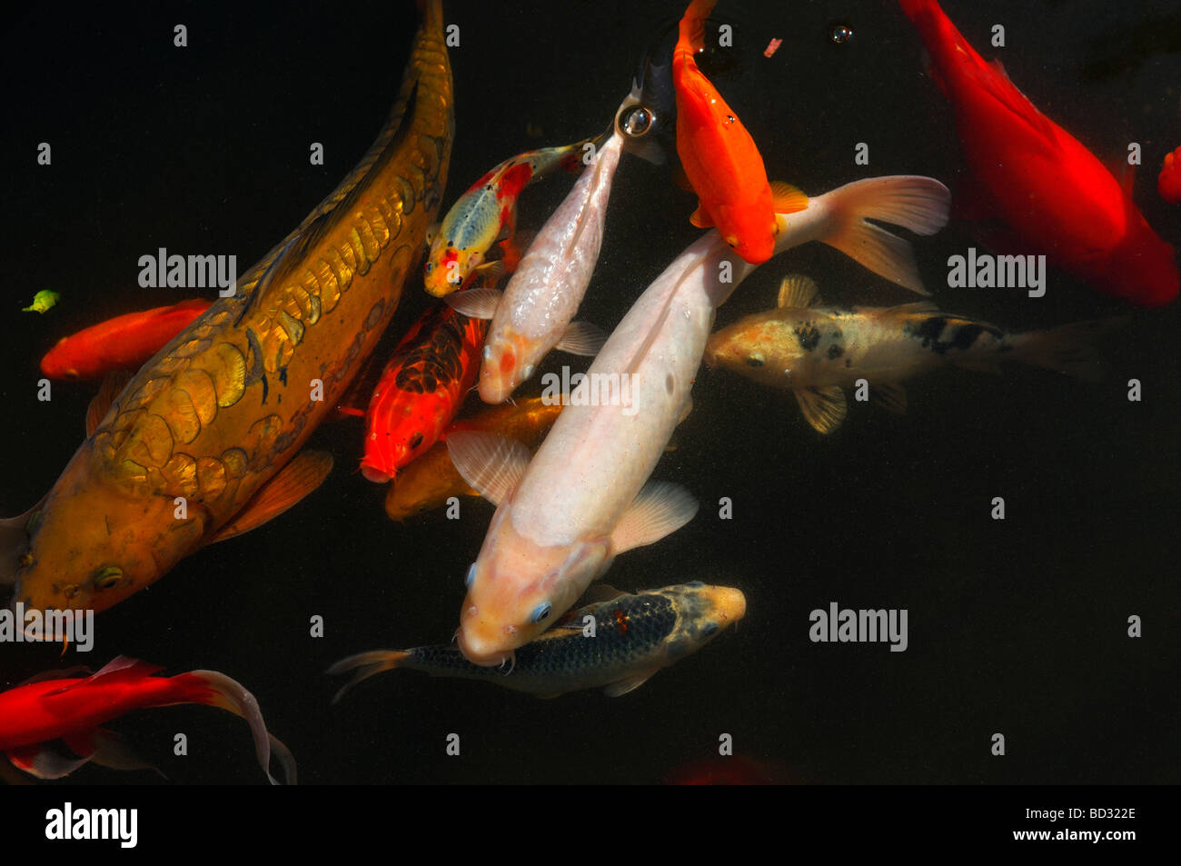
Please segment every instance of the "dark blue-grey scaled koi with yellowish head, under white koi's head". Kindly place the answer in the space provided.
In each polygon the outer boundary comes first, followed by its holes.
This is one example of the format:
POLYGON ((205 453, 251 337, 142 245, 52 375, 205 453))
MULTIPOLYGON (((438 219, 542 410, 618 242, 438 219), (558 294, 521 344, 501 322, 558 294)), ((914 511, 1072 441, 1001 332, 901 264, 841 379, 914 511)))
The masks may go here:
POLYGON ((596 688, 614 697, 696 652, 745 611, 746 600, 738 590, 681 584, 573 611, 521 646, 509 671, 474 665, 450 644, 361 653, 333 670, 360 669, 353 682, 379 670, 410 668, 436 677, 482 679, 539 697, 596 688))

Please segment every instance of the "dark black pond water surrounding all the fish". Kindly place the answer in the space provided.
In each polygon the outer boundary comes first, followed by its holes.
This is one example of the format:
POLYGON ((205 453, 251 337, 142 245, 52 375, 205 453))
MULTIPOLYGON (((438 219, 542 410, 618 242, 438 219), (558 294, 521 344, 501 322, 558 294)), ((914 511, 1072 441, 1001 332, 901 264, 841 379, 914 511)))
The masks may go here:
MULTIPOLYGON (((302 220, 385 118, 415 28, 409 6, 94 6, 79 17, 39 5, 9 19, 0 514, 50 488, 97 388, 56 383, 52 402, 39 403, 41 354, 107 317, 194 294, 138 288, 141 255, 161 246, 235 253, 244 272, 302 220), (187 48, 172 47, 176 22, 188 25, 187 48), (41 141, 53 146, 48 169, 35 164, 41 141), (324 167, 307 164, 313 141, 325 145, 324 167), (60 305, 21 313, 40 288, 61 292, 60 305)), ((683 11, 638 6, 448 4, 461 46, 451 51, 458 126, 445 204, 508 156, 611 121, 635 59, 683 11)), ((1101 158, 1140 142, 1136 202, 1162 237, 1181 241, 1181 210, 1155 191, 1161 159, 1181 144, 1181 53, 1153 47, 1181 31, 1176 4, 945 8, 1101 158), (1005 48, 988 46, 993 24, 1006 28, 1005 48)), ((738 58, 718 85, 772 178, 811 194, 872 175, 953 181, 952 112, 895 4, 723 0, 717 15, 733 24, 738 58), (833 45, 834 22, 852 26, 853 39, 833 45), (783 45, 765 59, 771 37, 783 45), (857 142, 869 144, 868 167, 854 164, 857 142)), ((527 190, 521 224, 540 227, 568 187, 560 178, 527 190)), ((613 326, 698 235, 686 219, 693 204, 659 169, 625 157, 580 318, 613 326)), ((959 222, 915 242, 946 311, 1012 330, 1122 311, 1059 272, 1042 299, 947 288, 947 256, 974 243, 959 222)), ((811 245, 749 279, 719 324, 771 306, 791 272, 814 276, 833 302, 912 300, 811 245)), ((391 343, 426 300, 407 285, 391 343)), ((618 699, 537 701, 393 672, 329 705, 332 662, 450 638, 492 513, 465 500, 458 522, 436 513, 392 523, 384 490, 352 471, 358 422, 313 437, 337 457, 313 496, 100 614, 94 651, 65 664, 97 669, 125 653, 169 672, 224 671, 257 696, 307 783, 655 782, 716 755, 723 732, 784 781, 1176 782, 1177 326, 1175 304, 1138 313, 1102 346, 1113 375, 1101 385, 1017 365, 1003 377, 952 369, 911 383, 901 417, 850 402, 829 437, 804 424, 790 395, 703 371, 678 449, 653 475, 685 484, 703 508, 621 556, 607 580, 733 585, 748 614, 618 699), (1127 399, 1133 377, 1140 403, 1127 399), (723 496, 733 520, 717 516, 723 496), (1004 521, 990 517, 993 496, 1005 497, 1004 521), (808 614, 830 601, 907 608, 909 649, 811 643, 808 614), (308 636, 313 614, 325 618, 322 639, 308 636), (1143 617, 1138 640, 1125 634, 1130 614, 1143 617), (997 731, 1004 757, 990 754, 997 731), (444 754, 450 732, 462 757, 444 754)), ((0 688, 63 664, 53 647, 6 646, 0 688)), ((244 725, 228 714, 172 708, 111 727, 174 782, 263 781, 244 725), (176 731, 189 736, 188 760, 171 754, 176 731)), ((87 767, 68 783, 156 781, 87 767)))

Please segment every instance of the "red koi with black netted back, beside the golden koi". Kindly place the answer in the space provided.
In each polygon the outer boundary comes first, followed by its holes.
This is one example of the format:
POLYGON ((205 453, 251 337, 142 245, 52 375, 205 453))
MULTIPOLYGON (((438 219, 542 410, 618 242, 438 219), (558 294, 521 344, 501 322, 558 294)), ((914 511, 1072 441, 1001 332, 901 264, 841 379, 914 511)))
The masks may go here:
POLYGON ((487 330, 437 304, 402 338, 365 412, 361 475, 390 481, 438 441, 476 382, 487 330))

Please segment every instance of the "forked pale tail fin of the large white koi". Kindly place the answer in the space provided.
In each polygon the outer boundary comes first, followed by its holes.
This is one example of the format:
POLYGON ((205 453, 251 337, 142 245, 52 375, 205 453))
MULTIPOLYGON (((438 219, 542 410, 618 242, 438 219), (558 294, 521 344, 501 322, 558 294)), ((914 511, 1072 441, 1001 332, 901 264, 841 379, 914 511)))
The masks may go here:
POLYGON ((830 211, 824 243, 892 282, 919 294, 922 287, 909 242, 866 220, 890 222, 915 234, 932 235, 947 223, 951 193, 933 177, 867 177, 820 197, 830 211))

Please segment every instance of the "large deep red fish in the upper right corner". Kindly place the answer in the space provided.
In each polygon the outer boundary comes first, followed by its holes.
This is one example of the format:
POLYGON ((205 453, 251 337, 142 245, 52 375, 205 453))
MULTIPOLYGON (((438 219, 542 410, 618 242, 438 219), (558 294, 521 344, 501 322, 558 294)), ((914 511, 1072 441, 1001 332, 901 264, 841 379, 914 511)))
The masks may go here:
POLYGON ((1133 304, 1173 300, 1181 286, 1173 247, 1156 236, 1129 191, 1038 111, 998 61, 986 64, 937 0, 900 2, 955 110, 977 197, 1016 234, 1020 252, 1045 254, 1133 304))

